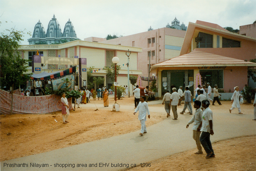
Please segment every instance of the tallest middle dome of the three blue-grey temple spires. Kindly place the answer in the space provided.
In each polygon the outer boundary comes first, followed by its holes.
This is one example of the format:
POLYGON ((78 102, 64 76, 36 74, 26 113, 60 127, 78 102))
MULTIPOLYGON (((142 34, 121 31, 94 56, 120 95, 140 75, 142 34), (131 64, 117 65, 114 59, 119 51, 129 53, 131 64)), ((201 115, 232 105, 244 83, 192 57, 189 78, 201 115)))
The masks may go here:
POLYGON ((46 38, 60 38, 62 36, 62 31, 60 28, 60 24, 55 18, 55 15, 53 15, 52 20, 50 20, 46 32, 46 38))

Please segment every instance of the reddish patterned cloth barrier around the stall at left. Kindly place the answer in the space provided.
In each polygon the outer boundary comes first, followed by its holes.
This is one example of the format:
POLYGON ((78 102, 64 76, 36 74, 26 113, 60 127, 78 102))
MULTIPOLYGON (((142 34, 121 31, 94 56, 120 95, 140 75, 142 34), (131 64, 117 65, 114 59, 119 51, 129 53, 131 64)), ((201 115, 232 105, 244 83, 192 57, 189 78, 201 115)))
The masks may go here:
MULTIPOLYGON (((10 114, 44 114, 61 110, 60 96, 21 96, 0 89, 0 113, 10 114)), ((68 99, 69 110, 73 110, 71 98, 68 99)))

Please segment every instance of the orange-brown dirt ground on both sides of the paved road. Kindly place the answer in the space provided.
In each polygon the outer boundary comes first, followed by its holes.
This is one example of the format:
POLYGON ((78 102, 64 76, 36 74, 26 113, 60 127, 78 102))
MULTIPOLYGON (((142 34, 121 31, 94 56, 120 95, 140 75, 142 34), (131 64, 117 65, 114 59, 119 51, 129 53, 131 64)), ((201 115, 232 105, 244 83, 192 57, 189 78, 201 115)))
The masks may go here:
MULTIPOLYGON (((138 116, 132 114, 133 100, 133 97, 118 100, 121 106, 129 104, 130 107, 121 112, 113 112, 112 107, 103 107, 103 100, 91 99, 91 104, 95 103, 95 107, 80 105, 76 111, 70 111, 68 124, 62 124, 61 111, 41 115, 1 114, 0 160, 15 159, 138 131, 140 122, 138 116), (98 111, 95 111, 96 106, 99 108, 98 111)), ((231 106, 230 101, 221 103, 223 105, 211 106, 211 109, 218 106, 219 109, 227 110, 227 106, 231 106)), ((109 98, 109 104, 114 104, 113 97, 109 98)), ((163 107, 162 104, 154 106, 163 107)), ((179 106, 178 111, 182 107, 179 106)), ((241 108, 244 113, 250 113, 253 109, 252 104, 243 104, 241 108)), ((156 111, 150 111, 151 117, 147 120, 147 126, 166 118, 163 111, 156 111)), ((237 109, 232 113, 238 113, 237 109)), ((207 160, 204 158, 205 153, 195 155, 196 150, 193 150, 152 161, 151 167, 136 167, 130 170, 256 170, 255 140, 255 136, 246 136, 215 142, 214 150, 218 153, 215 158, 207 160)))

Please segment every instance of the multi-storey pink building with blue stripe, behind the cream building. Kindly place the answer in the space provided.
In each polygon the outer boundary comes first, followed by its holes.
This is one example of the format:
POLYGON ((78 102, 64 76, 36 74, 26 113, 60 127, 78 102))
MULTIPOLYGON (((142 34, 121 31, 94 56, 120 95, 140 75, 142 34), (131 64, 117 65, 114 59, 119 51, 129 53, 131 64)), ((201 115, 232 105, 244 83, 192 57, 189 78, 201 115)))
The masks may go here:
MULTIPOLYGON (((89 37, 85 38, 84 41, 99 41, 100 43, 142 48, 142 52, 138 53, 137 70, 142 70, 140 76, 147 78, 149 72, 149 56, 150 66, 179 56, 185 34, 186 31, 184 30, 164 27, 155 30, 151 28, 147 32, 111 40, 105 39, 104 41, 102 38, 89 37)), ((130 60, 130 66, 135 63, 136 62, 130 60)), ((154 73, 150 73, 150 76, 152 76, 152 74, 154 73)), ((146 87, 147 85, 147 81, 142 81, 142 86, 146 87)))

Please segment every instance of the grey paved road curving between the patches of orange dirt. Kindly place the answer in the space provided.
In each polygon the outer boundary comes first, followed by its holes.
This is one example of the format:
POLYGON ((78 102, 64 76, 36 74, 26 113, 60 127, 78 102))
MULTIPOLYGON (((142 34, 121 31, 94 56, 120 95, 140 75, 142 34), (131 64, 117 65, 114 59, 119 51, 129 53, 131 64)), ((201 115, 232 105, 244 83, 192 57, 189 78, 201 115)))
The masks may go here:
MULTIPOLYGON (((159 103, 161 103, 160 100, 149 102, 150 111, 164 113, 163 107, 154 107, 154 104, 159 103)), ((86 107, 92 106, 95 107, 94 103, 86 104, 86 107)), ((122 110, 124 109, 131 108, 122 105, 122 110)), ((180 111, 181 108, 178 109, 178 112, 180 111)), ((179 115, 178 120, 172 120, 170 117, 166 118, 162 122, 148 127, 148 133, 143 136, 139 136, 138 130, 50 152, 2 161, 1 170, 113 171, 132 167, 135 164, 140 167, 140 163, 148 163, 151 160, 171 154, 196 149, 195 141, 192 138, 192 125, 186 129, 190 118, 191 115, 188 114, 179 115), (16 164, 16 167, 6 167, 6 164, 9 164, 9 166, 10 164, 16 164), (35 164, 35 167, 33 164, 35 164)), ((244 113, 243 115, 213 110, 213 130, 215 134, 211 136, 211 141, 255 135, 256 122, 252 118, 253 108, 251 113, 244 113)), ((218 157, 218 151, 215 151, 215 155, 218 157)))

